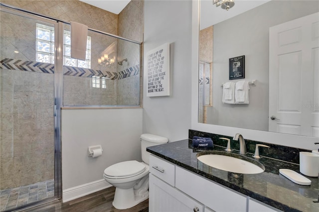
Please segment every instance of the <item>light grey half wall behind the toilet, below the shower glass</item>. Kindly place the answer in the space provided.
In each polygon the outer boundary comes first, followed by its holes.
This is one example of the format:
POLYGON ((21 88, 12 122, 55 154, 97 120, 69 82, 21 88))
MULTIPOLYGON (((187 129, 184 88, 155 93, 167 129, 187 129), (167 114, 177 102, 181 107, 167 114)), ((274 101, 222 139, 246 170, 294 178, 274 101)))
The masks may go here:
POLYGON ((142 108, 62 109, 64 202, 109 186, 103 179, 108 166, 126 160, 141 161, 142 111, 142 108), (97 144, 102 145, 102 156, 88 157, 88 146, 97 144), (94 186, 92 182, 98 183, 94 186))

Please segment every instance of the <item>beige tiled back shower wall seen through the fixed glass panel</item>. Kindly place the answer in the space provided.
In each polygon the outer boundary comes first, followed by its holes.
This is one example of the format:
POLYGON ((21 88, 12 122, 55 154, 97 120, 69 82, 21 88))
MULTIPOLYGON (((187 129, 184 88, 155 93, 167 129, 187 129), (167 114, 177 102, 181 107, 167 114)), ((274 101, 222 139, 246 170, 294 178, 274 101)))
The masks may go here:
MULTIPOLYGON (((64 28, 70 30, 70 25, 64 24, 64 28)), ((92 31, 88 31, 88 36, 91 37, 91 68, 64 66, 63 105, 117 105, 117 65, 113 63, 103 67, 98 64, 98 59, 105 53, 116 55, 119 39, 92 31), (106 77, 106 75, 110 78, 106 80, 106 89, 93 88, 91 77, 106 77)))

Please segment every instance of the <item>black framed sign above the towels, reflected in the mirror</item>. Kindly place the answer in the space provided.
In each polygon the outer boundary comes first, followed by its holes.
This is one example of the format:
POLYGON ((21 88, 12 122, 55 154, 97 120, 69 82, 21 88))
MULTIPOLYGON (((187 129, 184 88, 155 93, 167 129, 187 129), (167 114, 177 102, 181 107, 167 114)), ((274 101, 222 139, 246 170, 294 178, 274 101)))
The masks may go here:
POLYGON ((229 58, 229 80, 245 78, 245 55, 229 58))

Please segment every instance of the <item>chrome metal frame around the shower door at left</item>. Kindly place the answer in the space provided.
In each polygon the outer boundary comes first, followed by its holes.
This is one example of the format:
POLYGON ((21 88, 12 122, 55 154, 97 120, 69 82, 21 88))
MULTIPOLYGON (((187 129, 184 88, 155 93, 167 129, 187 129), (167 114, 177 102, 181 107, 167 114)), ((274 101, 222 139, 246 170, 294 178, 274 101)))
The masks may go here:
MULTIPOLYGON (((54 25, 54 197, 36 201, 24 206, 16 207, 14 210, 31 207, 39 203, 60 199, 62 197, 62 160, 61 160, 61 97, 63 78, 63 22, 37 15, 33 12, 22 10, 0 3, 0 11, 30 18, 54 25), (3 6, 3 7, 2 7, 3 6), (7 9, 5 7, 11 8, 7 9), (12 10, 13 9, 13 10, 12 10), (30 15, 31 14, 31 15, 30 15)), ((34 37, 35 39, 35 37, 34 37)))

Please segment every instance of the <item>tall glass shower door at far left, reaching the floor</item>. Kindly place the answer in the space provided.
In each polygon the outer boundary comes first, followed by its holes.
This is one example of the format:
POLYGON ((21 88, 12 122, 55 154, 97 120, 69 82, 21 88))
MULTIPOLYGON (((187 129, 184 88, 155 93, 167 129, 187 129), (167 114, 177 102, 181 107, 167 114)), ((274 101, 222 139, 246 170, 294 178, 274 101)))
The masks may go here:
POLYGON ((0 211, 55 196, 57 22, 0 11, 0 211))

